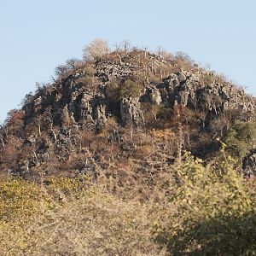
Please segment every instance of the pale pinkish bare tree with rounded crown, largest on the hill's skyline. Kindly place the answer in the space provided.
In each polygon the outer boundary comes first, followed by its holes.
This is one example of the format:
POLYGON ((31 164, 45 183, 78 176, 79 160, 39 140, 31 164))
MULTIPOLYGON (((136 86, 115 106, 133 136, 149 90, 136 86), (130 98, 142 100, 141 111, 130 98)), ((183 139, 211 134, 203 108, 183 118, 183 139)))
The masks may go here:
POLYGON ((103 55, 108 55, 108 42, 103 39, 95 39, 83 49, 84 60, 96 60, 102 58, 103 55))

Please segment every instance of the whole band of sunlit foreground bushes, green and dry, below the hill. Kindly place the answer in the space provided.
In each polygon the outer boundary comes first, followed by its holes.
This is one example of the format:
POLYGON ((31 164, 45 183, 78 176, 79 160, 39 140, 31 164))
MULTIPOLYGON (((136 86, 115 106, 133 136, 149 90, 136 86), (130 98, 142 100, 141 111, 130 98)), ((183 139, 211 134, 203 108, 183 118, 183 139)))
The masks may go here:
POLYGON ((2 253, 254 255, 256 184, 235 164, 203 166, 186 153, 150 198, 136 185, 125 199, 113 179, 2 181, 2 253))

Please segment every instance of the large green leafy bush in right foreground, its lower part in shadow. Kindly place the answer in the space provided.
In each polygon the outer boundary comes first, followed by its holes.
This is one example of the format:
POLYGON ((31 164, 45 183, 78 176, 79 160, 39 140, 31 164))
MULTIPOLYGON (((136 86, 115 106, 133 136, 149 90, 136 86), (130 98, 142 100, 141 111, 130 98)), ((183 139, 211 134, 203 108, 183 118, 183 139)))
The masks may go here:
POLYGON ((224 161, 218 172, 187 156, 156 241, 173 255, 256 255, 255 194, 224 161))

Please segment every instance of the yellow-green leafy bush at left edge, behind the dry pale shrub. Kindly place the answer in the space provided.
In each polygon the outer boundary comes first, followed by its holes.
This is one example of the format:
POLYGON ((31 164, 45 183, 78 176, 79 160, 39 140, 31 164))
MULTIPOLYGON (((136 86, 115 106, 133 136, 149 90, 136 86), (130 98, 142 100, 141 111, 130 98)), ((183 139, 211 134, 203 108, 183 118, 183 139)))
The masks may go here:
POLYGON ((0 181, 0 224, 16 220, 26 223, 30 217, 44 212, 55 198, 77 194, 90 184, 88 177, 51 178, 47 186, 23 179, 0 181))

